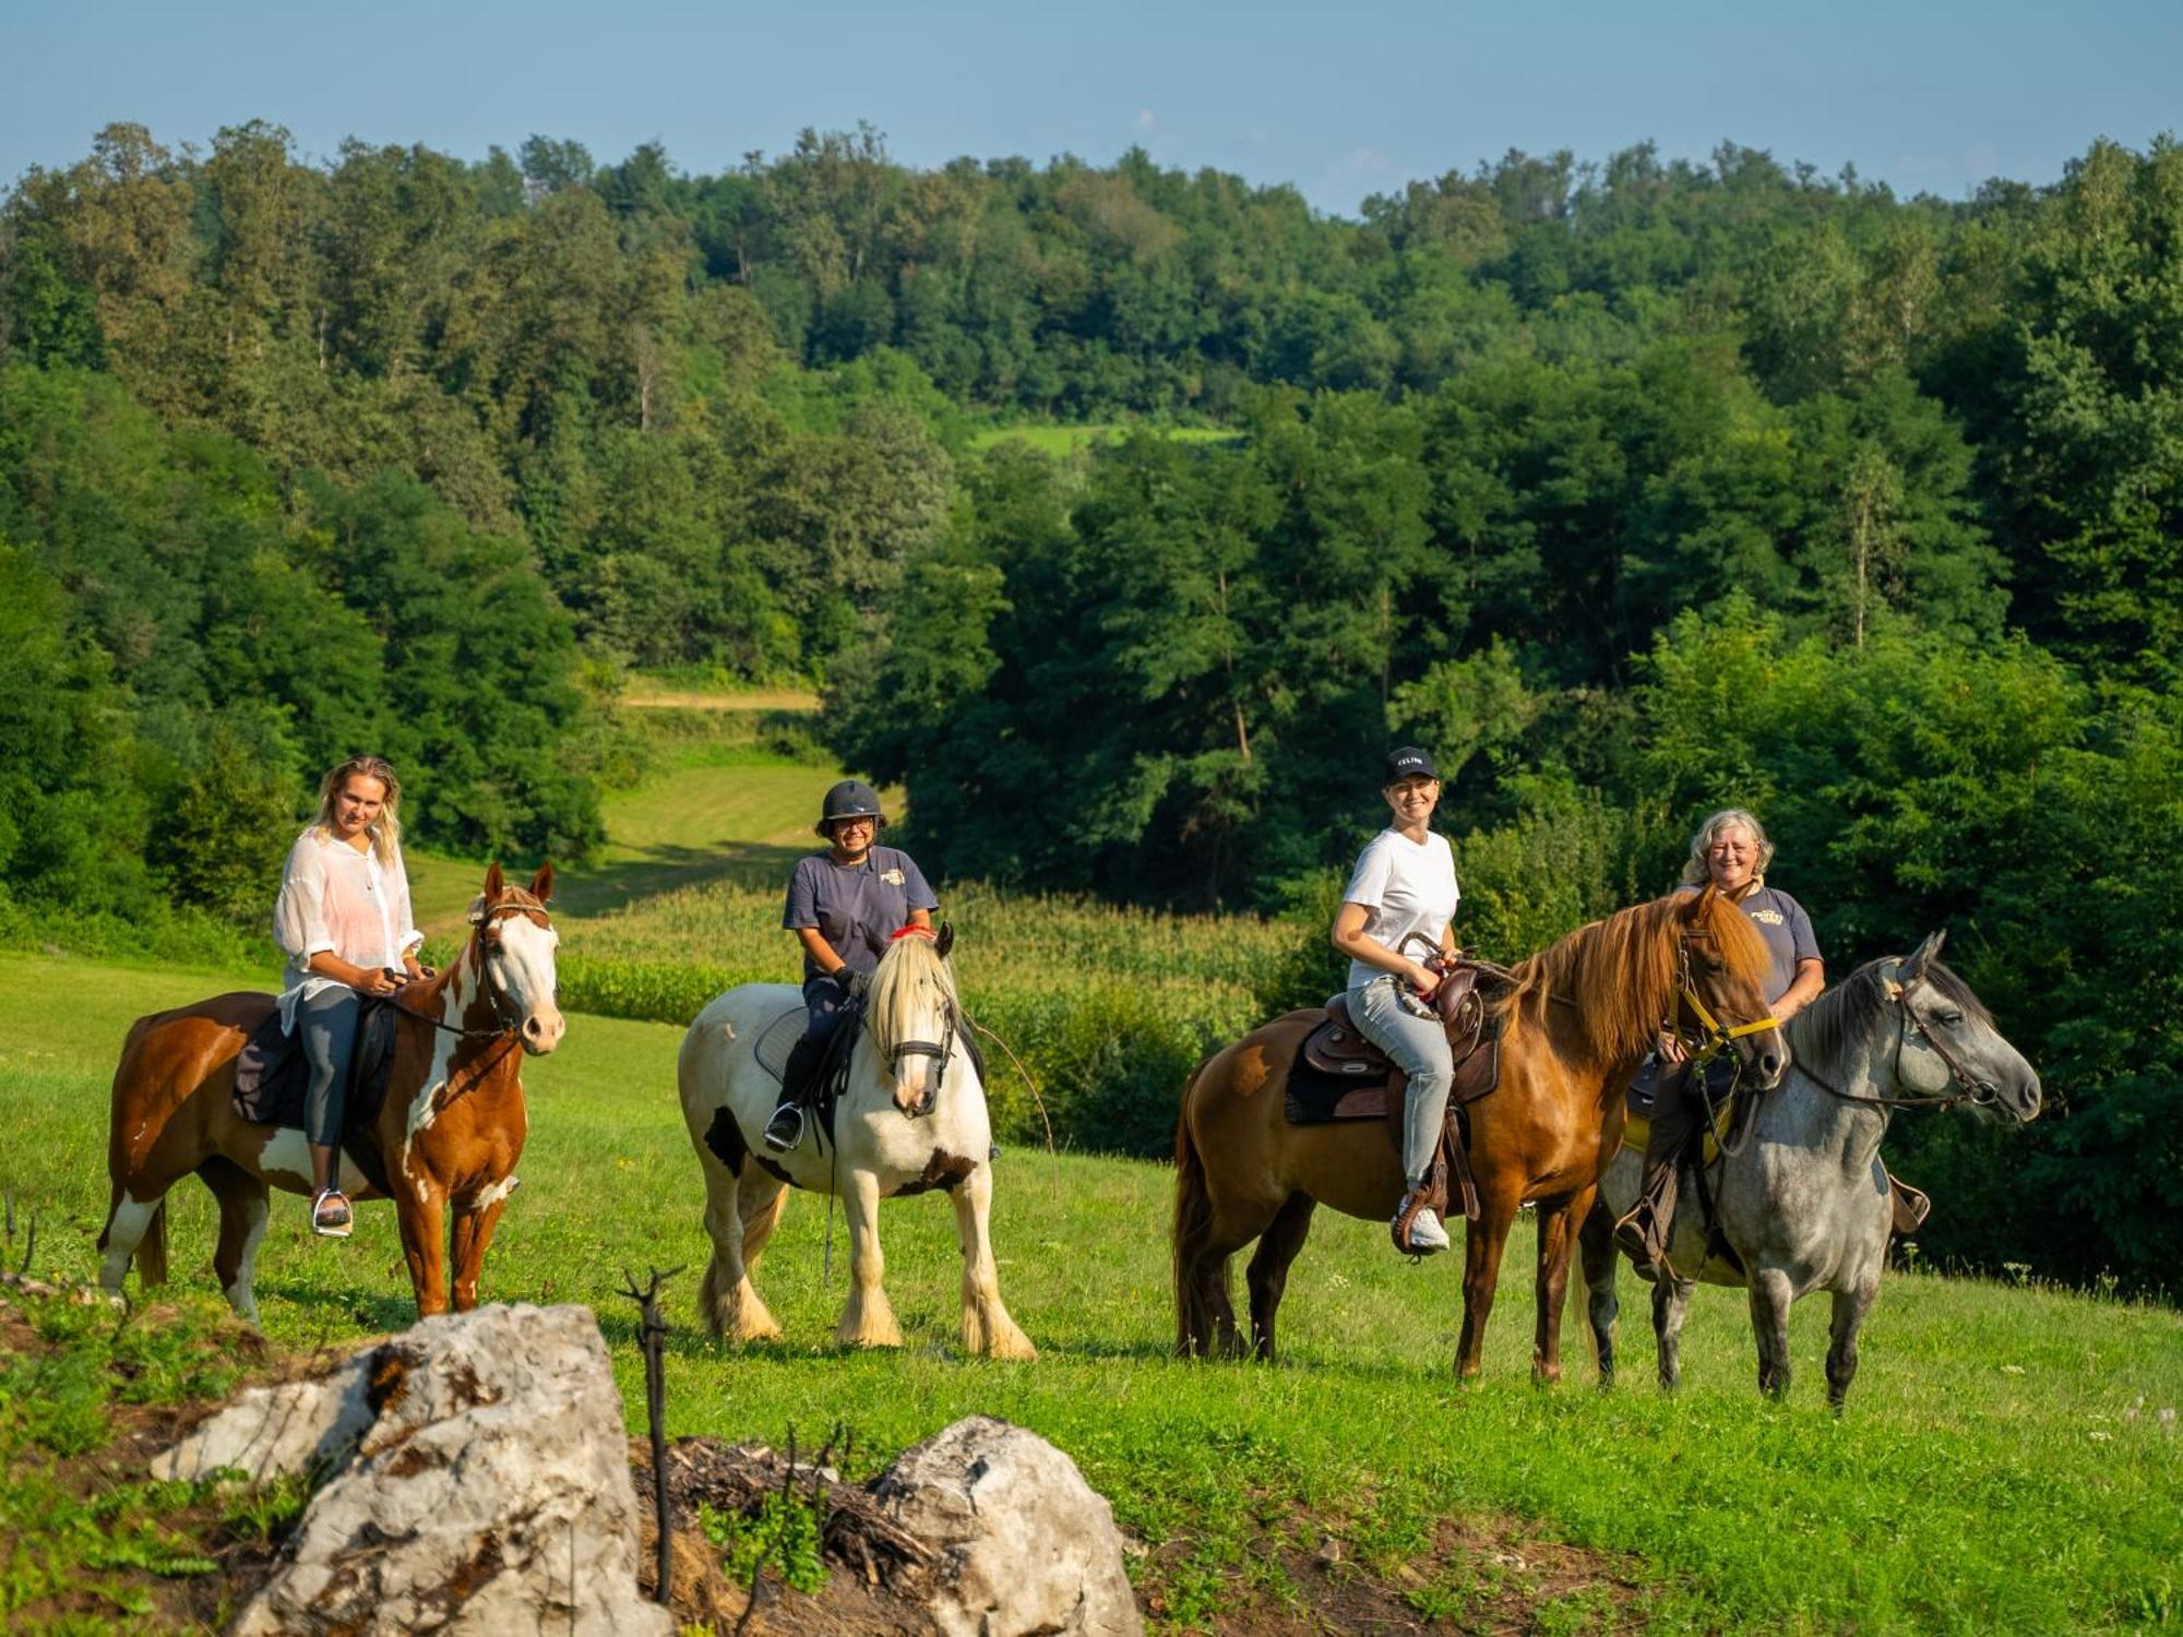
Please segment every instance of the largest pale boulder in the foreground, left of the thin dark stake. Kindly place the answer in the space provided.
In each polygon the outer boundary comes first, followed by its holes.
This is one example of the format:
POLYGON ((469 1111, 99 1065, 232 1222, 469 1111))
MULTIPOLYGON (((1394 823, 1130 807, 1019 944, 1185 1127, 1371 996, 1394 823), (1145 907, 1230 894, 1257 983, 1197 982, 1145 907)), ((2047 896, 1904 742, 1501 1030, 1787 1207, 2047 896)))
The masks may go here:
POLYGON ((234 1633, 672 1630, 589 1310, 426 1318, 365 1364, 373 1421, 234 1633))

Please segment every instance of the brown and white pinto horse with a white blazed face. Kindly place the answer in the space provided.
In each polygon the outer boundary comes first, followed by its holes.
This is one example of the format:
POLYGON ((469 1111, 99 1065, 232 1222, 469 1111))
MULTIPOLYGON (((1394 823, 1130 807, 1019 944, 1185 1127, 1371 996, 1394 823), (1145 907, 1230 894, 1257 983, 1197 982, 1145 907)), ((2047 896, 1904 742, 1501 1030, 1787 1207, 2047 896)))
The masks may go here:
MULTIPOLYGON (((515 1048, 541 1056, 561 1043, 550 895, 552 864, 533 877, 530 891, 502 882, 493 864, 469 908, 461 958, 397 997, 406 1015, 395 1019, 386 1102, 371 1131, 419 1316, 448 1312, 441 1246, 450 1205, 454 1307, 478 1305, 478 1266, 528 1131, 515 1048)), ((273 995, 214 995, 140 1017, 129 1030, 107 1133, 114 1203, 98 1235, 105 1253, 98 1281, 107 1290, 120 1290, 131 1257, 146 1286, 166 1279, 166 1192, 196 1172, 220 1203, 214 1272, 229 1305, 258 1323, 251 1277, 266 1231, 266 1190, 310 1194, 303 1133, 236 1113, 236 1056, 273 1006, 273 995)), ((347 1152, 338 1166, 351 1198, 384 1196, 347 1152)))

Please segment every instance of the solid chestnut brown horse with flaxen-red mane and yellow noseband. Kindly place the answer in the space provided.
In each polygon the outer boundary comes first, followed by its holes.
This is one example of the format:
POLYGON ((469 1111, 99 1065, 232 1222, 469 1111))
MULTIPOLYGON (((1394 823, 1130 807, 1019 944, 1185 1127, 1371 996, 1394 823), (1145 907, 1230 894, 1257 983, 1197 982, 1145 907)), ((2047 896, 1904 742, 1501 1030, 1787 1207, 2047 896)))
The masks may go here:
MULTIPOLYGON (((1456 1373, 1476 1375, 1515 1214, 1539 1207, 1532 1375, 1561 1379, 1561 1303, 1576 1229, 1622 1144, 1622 1089, 1666 1019, 1738 1054, 1773 1085, 1788 1065, 1766 1008, 1766 945, 1711 886, 1583 925, 1515 967, 1493 1002, 1500 1087, 1469 1104, 1480 1216, 1463 1257, 1456 1373), (1720 1021, 1716 1021, 1720 1019, 1720 1021)), ((1288 1070, 1325 1013, 1288 1013, 1216 1052, 1190 1080, 1174 1128, 1177 1351, 1242 1353, 1227 1264, 1249 1266, 1251 1351, 1273 1355, 1273 1316, 1314 1205, 1386 1222, 1401 1157, 1380 1120, 1292 1126, 1288 1070)))

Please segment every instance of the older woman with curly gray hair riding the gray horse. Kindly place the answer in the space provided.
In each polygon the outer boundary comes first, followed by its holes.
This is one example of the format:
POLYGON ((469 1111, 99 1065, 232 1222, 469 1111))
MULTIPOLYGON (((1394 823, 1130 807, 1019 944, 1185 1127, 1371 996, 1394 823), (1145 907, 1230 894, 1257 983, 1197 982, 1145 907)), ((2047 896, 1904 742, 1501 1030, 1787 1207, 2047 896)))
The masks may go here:
MULTIPOLYGON (((1766 941, 1773 956, 1773 980, 1766 984, 1773 1015, 1784 1024, 1818 1000, 1827 987, 1827 969, 1812 936, 1812 917, 1779 886, 1766 886, 1766 867, 1775 847, 1766 829, 1742 808, 1722 808, 1690 838, 1690 860, 1683 864, 1683 891, 1698 893, 1707 884, 1735 904, 1766 941)), ((1631 1253, 1639 1272, 1653 1272, 1668 1244, 1674 1220, 1677 1166, 1683 1148, 1705 1118, 1692 1096, 1683 1043, 1672 1028, 1659 1032, 1659 1080, 1653 1104, 1653 1131, 1644 1148, 1644 1187, 1637 1205, 1615 1222, 1615 1242, 1631 1253)))

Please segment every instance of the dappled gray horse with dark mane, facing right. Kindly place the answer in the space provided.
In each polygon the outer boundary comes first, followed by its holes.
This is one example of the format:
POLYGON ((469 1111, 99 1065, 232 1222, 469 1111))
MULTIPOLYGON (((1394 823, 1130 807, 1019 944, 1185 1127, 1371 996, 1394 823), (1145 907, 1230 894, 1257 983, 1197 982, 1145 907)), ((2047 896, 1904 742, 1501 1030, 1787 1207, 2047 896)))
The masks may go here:
MULTIPOLYGON (((1858 1327, 1880 1294, 1888 1259, 1893 1203, 1880 1163, 1888 1115, 1969 1104, 1987 1120, 2021 1124, 2039 1113, 2039 1076, 1965 982, 1941 965, 1941 936, 1928 936, 1908 960, 1858 967, 1788 1021, 1788 1076, 1759 1096, 1707 1172, 1720 1238, 1742 1268, 1709 1255, 1694 1168, 1683 1168, 1672 1266, 1653 1286, 1663 1388, 1681 1379, 1679 1334, 1698 1279, 1749 1288, 1759 1390, 1773 1395, 1788 1393, 1790 1303, 1829 1290, 1827 1399, 1840 1410, 1858 1373, 1858 1327)), ((1600 1179, 1598 1205, 1583 1229, 1602 1386, 1615 1375, 1613 1222, 1637 1203, 1639 1174, 1637 1152, 1624 1148, 1600 1179)))

